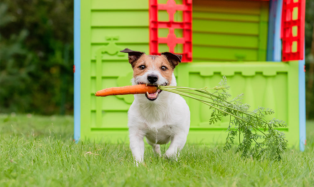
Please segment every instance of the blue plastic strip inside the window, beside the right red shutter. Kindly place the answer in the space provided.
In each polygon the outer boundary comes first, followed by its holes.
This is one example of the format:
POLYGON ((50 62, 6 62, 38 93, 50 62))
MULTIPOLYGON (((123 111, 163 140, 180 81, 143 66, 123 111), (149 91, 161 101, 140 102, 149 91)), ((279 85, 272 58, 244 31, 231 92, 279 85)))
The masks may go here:
POLYGON ((281 14, 283 0, 274 0, 276 2, 276 11, 274 18, 274 35, 273 35, 273 59, 274 62, 281 62, 281 14))

